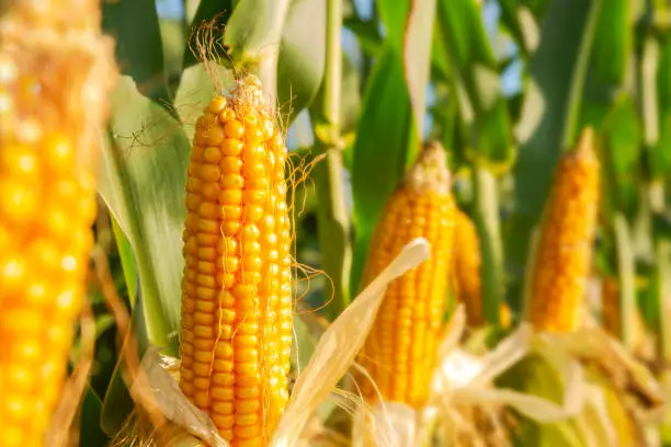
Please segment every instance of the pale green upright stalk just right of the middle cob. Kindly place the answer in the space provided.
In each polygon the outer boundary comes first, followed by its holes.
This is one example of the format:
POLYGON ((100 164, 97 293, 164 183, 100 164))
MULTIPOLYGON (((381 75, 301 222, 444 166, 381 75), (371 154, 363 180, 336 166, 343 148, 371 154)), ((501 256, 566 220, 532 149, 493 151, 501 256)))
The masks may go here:
POLYGON ((485 320, 499 325, 503 291, 503 250, 499 226, 497 180, 487 169, 474 165, 475 224, 480 239, 482 265, 482 312, 485 320))

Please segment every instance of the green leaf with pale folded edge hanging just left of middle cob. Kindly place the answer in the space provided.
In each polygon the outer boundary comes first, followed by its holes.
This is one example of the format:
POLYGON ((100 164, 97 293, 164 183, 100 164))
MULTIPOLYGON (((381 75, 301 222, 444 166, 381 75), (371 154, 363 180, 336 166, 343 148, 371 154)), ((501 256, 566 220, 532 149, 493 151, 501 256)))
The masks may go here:
POLYGON ((368 81, 352 161, 352 296, 384 204, 419 152, 431 67, 433 27, 427 23, 434 22, 434 1, 387 0, 378 7, 387 39, 368 81))

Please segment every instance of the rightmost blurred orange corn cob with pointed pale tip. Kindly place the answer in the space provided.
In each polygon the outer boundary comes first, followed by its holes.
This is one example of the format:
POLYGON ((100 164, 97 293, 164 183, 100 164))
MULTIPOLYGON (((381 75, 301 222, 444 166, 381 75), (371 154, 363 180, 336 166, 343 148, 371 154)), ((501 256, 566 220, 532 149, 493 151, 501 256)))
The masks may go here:
POLYGON ((538 238, 526 319, 536 330, 570 332, 582 323, 599 200, 599 160, 587 128, 559 162, 538 238))

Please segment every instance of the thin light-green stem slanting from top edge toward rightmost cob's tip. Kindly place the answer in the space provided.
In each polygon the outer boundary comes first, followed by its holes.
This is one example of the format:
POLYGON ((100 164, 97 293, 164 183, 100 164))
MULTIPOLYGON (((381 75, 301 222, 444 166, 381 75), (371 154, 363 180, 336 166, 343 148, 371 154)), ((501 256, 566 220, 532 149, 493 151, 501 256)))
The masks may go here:
POLYGON ((583 38, 580 42, 580 49, 578 50, 578 61, 572 73, 571 84, 569 88, 568 98, 568 112, 564 125, 564 133, 561 136, 562 149, 567 150, 573 146, 576 138, 578 137, 578 124, 580 121, 580 104, 582 102, 582 90, 584 88, 584 80, 587 78, 588 69, 590 67, 590 56, 592 54, 592 43, 594 42, 594 34, 599 16, 604 1, 593 0, 592 8, 590 8, 589 15, 587 18, 587 26, 583 31, 583 38))

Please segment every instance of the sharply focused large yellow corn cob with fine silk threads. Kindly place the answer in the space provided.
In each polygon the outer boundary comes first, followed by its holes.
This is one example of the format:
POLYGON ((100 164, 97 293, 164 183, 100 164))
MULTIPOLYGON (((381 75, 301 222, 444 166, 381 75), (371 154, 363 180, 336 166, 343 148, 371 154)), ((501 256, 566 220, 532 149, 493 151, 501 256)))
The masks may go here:
POLYGON ((284 138, 259 80, 196 123, 186 182, 181 381, 234 446, 266 445, 287 402, 292 233, 284 138))

